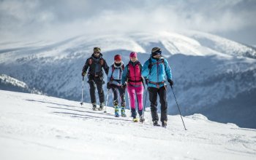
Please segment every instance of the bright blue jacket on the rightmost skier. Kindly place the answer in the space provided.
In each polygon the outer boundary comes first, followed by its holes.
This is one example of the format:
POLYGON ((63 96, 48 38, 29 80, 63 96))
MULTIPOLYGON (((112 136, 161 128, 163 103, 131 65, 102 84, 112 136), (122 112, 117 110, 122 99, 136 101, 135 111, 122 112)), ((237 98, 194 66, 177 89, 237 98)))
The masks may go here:
POLYGON ((172 73, 170 70, 170 65, 164 57, 160 57, 159 60, 151 58, 151 73, 150 69, 148 68, 149 60, 146 61, 143 65, 142 76, 148 79, 148 87, 155 87, 157 88, 157 84, 159 83, 159 87, 165 85, 165 83, 161 83, 166 81, 167 79, 172 79, 172 73), (164 63, 162 63, 162 60, 164 63))

